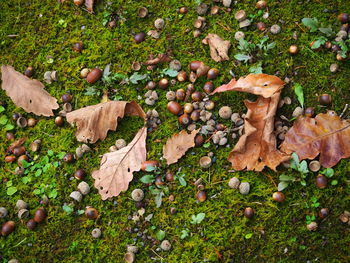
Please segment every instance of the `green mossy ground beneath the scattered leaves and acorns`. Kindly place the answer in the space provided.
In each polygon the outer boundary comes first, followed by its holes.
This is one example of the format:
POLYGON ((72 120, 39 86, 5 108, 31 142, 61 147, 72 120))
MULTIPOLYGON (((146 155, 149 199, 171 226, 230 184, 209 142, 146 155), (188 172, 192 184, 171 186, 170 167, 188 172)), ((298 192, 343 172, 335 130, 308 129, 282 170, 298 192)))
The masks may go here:
MULTIPOLYGON (((70 1, 67 1, 70 2, 70 1)), ((187 65, 192 60, 202 60, 212 67, 220 69, 221 75, 215 80, 215 84, 227 82, 231 77, 229 70, 241 76, 248 73, 247 66, 235 66, 233 59, 223 63, 215 63, 209 56, 209 49, 201 43, 202 37, 193 38, 192 23, 197 17, 195 1, 111 1, 109 9, 122 15, 125 20, 118 21, 118 25, 110 30, 102 25, 103 14, 106 11, 106 2, 100 1, 95 8, 96 14, 90 15, 72 3, 59 5, 52 0, 17 0, 0 1, 0 64, 11 64, 18 71, 23 72, 28 65, 35 68, 35 78, 42 80, 43 74, 48 70, 57 70, 59 80, 51 85, 46 85, 49 93, 56 98, 68 91, 74 94, 74 108, 96 104, 101 96, 86 96, 85 90, 90 85, 80 79, 79 71, 82 67, 104 68, 112 63, 112 71, 128 74, 131 72, 133 61, 145 61, 149 54, 164 53, 171 49, 174 57, 187 65), (101 3, 102 2, 102 3, 101 3), (137 16, 139 7, 145 6, 150 15, 146 19, 137 16), (187 6, 188 14, 179 15, 177 8, 187 6), (132 39, 133 32, 152 29, 153 21, 162 17, 166 19, 166 27, 161 32, 159 40, 147 37, 141 44, 135 44, 132 39), (63 22, 60 20, 63 20, 63 22), (66 27, 64 27, 66 23, 66 27), (81 27, 85 26, 82 30, 81 27), (16 34, 16 38, 7 35, 16 34), (72 51, 72 45, 76 41, 83 41, 82 53, 72 51), (53 63, 48 63, 48 56, 52 56, 53 63)), ((210 1, 204 1, 210 2, 210 1)), ((228 39, 233 44, 231 58, 238 52, 234 33, 238 30, 238 23, 234 19, 234 13, 238 9, 244 9, 250 14, 256 13, 255 1, 238 1, 231 13, 220 10, 216 16, 207 15, 208 28, 203 33, 217 33, 222 38, 228 39)), ((317 112, 324 108, 317 106, 317 94, 330 93, 333 97, 332 109, 341 112, 345 103, 349 103, 349 61, 341 62, 341 71, 332 74, 329 65, 334 63, 334 54, 331 52, 316 52, 309 48, 314 34, 308 30, 303 32, 300 28, 303 17, 317 17, 319 21, 338 27, 336 15, 339 12, 350 12, 348 1, 297 1, 282 0, 269 1, 270 17, 268 26, 278 23, 282 26, 282 32, 273 36, 268 33, 270 39, 277 46, 268 56, 263 57, 263 70, 265 73, 277 74, 282 79, 291 78, 294 82, 301 83, 307 106, 314 106, 317 112), (324 12, 328 9, 329 12, 324 12), (282 21, 283 20, 283 21, 282 21), (292 33, 297 31, 299 39, 294 40, 292 33), (300 53, 290 56, 287 52, 289 45, 298 44, 300 53)), ((264 33, 257 31, 246 32, 246 38, 257 42, 264 33)), ((166 67, 164 65, 164 67, 166 67)), ((162 68, 162 66, 161 66, 162 68)), ((142 69, 145 72, 145 69, 142 69)), ((151 73, 155 78, 157 73, 151 73)), ((204 79, 200 80, 197 87, 201 87, 204 79)), ((171 86, 176 90, 183 84, 171 86)), ((101 92, 106 89, 100 81, 94 87, 101 92)), ((124 100, 137 100, 137 95, 143 95, 143 84, 140 85, 114 85, 124 100)), ((159 159, 162 155, 162 145, 174 132, 179 131, 177 119, 166 111, 165 92, 159 91, 160 100, 155 108, 160 112, 162 124, 153 133, 148 135, 147 149, 149 159, 159 159), (157 141, 156 141, 157 139, 157 141)), ((297 106, 297 100, 293 95, 291 86, 286 86, 283 95, 293 98, 290 106, 284 107, 280 113, 291 117, 292 110, 297 106)), ((250 97, 241 93, 224 93, 215 96, 213 100, 216 107, 231 105, 234 111, 244 113, 243 99, 250 97)), ((21 112, 26 117, 35 117, 16 108, 0 92, 0 99, 7 102, 6 115, 10 118, 12 113, 21 112)), ((138 101, 144 109, 149 109, 143 100, 138 101)), ((35 117, 36 118, 36 117, 35 117)), ((74 129, 65 125, 57 128, 53 118, 38 118, 39 123, 34 128, 24 130, 16 128, 16 137, 27 136, 25 146, 37 138, 42 139, 43 146, 40 156, 52 149, 55 153, 74 151, 79 145, 74 137, 74 129)), ((134 120, 134 119, 133 119, 134 120)), ((226 123, 229 125, 229 123, 226 123)), ((128 233, 127 228, 135 228, 133 221, 128 220, 135 208, 130 199, 130 193, 137 187, 142 187, 139 178, 141 172, 134 175, 129 190, 121 194, 114 201, 101 201, 96 189, 84 197, 74 209, 84 209, 90 205, 98 209, 101 216, 97 221, 86 220, 84 216, 75 214, 67 215, 63 209, 63 203, 70 203, 70 192, 76 189, 78 182, 69 180, 71 174, 79 167, 86 168, 89 172, 99 166, 99 155, 108 151, 108 147, 117 138, 124 138, 128 142, 132 140, 137 129, 142 126, 142 121, 130 121, 130 118, 122 120, 118 131, 110 132, 107 139, 93 145, 93 151, 74 164, 63 164, 57 175, 48 177, 43 174, 35 181, 23 185, 20 176, 12 171, 14 164, 5 164, 4 152, 8 143, 5 141, 5 131, 1 132, 0 144, 0 206, 9 209, 9 218, 17 222, 14 233, 8 237, 1 237, 0 257, 3 262, 11 258, 17 258, 20 262, 122 262, 127 244, 132 244, 136 233, 128 233), (66 176, 64 176, 66 174, 66 176), (67 176, 68 175, 68 176, 67 176), (6 194, 6 181, 12 180, 17 186, 18 192, 13 196, 6 194), (14 206, 18 199, 27 201, 33 213, 39 207, 40 198, 33 194, 35 183, 51 184, 56 182, 58 196, 50 200, 48 206, 47 223, 41 224, 35 231, 28 231, 14 212, 14 206), (103 236, 100 239, 91 237, 91 230, 95 227, 102 229, 103 236)), ((233 142, 230 142, 233 145, 233 142)), ((158 244, 150 242, 136 244, 140 247, 137 254, 137 262, 152 262, 151 258, 164 262, 349 262, 350 261, 350 235, 349 227, 340 223, 338 216, 349 209, 349 160, 343 160, 335 167, 335 177, 338 185, 329 186, 319 190, 314 185, 315 175, 309 175, 307 186, 302 187, 295 183, 285 191, 287 200, 277 204, 271 200, 271 194, 276 191, 275 183, 281 173, 293 174, 291 170, 280 169, 278 173, 265 170, 262 173, 240 172, 229 173, 226 161, 230 148, 218 148, 211 146, 208 149, 196 148, 182 158, 171 169, 176 171, 181 167, 185 178, 189 183, 187 187, 180 186, 178 182, 169 184, 170 193, 175 196, 174 202, 169 202, 165 197, 160 208, 156 208, 153 196, 146 192, 149 204, 146 207, 146 215, 153 213, 150 223, 142 223, 138 228, 148 229, 151 236, 162 229, 166 232, 166 239, 172 243, 170 252, 153 251, 158 244), (213 151, 216 163, 207 171, 201 170, 198 160, 207 152, 213 151), (194 152, 194 154, 191 154, 194 152), (251 193, 247 196, 240 195, 237 191, 227 187, 227 180, 233 175, 242 181, 251 184, 251 193), (204 203, 198 203, 195 199, 196 189, 193 181, 203 178, 206 183, 208 199, 204 203), (317 220, 319 229, 310 232, 306 229, 306 215, 316 215, 318 208, 310 208, 311 197, 317 197, 320 207, 328 207, 330 216, 325 220, 317 220), (256 210, 254 219, 247 220, 243 217, 245 207, 251 206, 256 210), (170 207, 176 207, 177 213, 170 215, 170 207), (205 220, 200 225, 190 224, 191 216, 204 212, 205 220), (151 226, 155 226, 154 230, 151 226), (184 240, 180 239, 181 230, 189 229, 191 234, 184 240), (252 237, 245 238, 252 233, 252 237)), ((295 173, 294 173, 295 175, 295 173)), ((87 178, 87 182, 93 185, 93 179, 87 178)), ((5 220, 1 219, 0 223, 5 220)))

